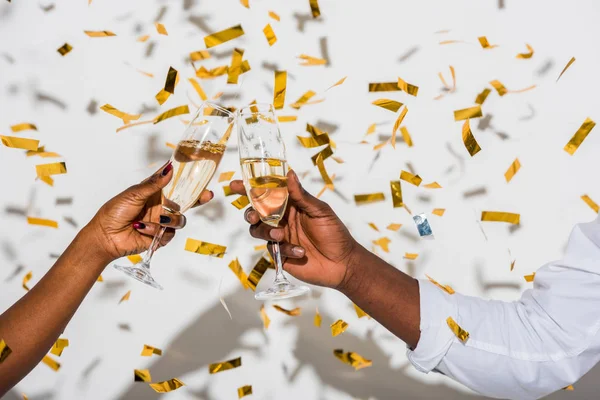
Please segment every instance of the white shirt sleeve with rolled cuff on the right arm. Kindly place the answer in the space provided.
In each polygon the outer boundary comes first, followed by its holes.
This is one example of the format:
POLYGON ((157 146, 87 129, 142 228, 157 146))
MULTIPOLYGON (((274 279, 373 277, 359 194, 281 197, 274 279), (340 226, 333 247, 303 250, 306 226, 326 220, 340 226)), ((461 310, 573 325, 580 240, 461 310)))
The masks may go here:
POLYGON ((600 361, 600 221, 576 225, 562 260, 540 268, 520 300, 450 295, 419 281, 421 338, 408 350, 483 395, 537 399, 571 385, 600 361), (446 319, 469 332, 462 343, 446 319))

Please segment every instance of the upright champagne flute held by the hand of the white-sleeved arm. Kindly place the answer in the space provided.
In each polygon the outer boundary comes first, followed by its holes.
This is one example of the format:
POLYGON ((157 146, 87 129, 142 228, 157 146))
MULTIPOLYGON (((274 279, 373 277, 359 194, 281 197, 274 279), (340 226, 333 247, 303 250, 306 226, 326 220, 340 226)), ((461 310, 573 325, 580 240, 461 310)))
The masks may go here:
MULTIPOLYGON (((238 146, 246 193, 265 224, 277 227, 285 214, 287 162, 277 117, 270 104, 252 104, 238 111, 238 146)), ((257 300, 286 299, 310 291, 290 283, 283 273, 279 243, 270 242, 275 282, 254 296, 257 300)))

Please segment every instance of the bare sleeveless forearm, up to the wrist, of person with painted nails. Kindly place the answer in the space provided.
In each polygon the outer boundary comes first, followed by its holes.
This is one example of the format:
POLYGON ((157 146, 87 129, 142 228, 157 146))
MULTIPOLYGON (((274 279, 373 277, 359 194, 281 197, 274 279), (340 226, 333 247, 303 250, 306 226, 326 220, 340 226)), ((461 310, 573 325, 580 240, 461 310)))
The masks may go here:
POLYGON ((0 315, 0 338, 12 354, 0 364, 0 397, 46 355, 111 261, 85 227, 48 273, 0 315))

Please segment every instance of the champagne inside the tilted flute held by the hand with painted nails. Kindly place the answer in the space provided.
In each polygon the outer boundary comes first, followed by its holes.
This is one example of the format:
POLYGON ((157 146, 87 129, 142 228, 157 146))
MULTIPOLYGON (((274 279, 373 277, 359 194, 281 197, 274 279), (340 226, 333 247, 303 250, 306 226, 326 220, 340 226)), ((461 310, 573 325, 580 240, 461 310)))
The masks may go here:
POLYGON ((184 213, 192 207, 212 179, 225 145, 182 140, 171 157, 173 178, 163 188, 163 207, 175 213, 184 213))

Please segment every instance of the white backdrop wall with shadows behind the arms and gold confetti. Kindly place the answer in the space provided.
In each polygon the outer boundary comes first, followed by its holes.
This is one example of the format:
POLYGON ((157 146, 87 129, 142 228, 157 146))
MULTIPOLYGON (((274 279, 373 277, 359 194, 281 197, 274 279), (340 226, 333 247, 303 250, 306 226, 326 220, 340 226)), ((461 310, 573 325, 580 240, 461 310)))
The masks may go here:
MULTIPOLYGON (((183 79, 193 76, 186 57, 204 48, 205 35, 238 23, 246 34, 217 47, 202 65, 229 64, 233 47, 245 49, 252 70, 241 79, 242 93, 233 100, 237 87, 227 86, 221 77, 202 82, 207 94, 225 91, 225 102, 236 106, 253 99, 270 102, 273 72, 268 67, 276 64, 288 71, 287 104, 309 89, 319 93, 315 99, 325 97, 325 102, 299 113, 289 106, 280 113, 298 115, 297 122, 281 126, 290 164, 300 173, 309 171, 304 179, 309 190, 320 190, 323 183, 310 161, 315 151, 300 147, 295 135, 304 135, 307 122, 328 130, 338 144, 336 155, 346 162, 326 162, 338 177, 337 191, 322 198, 369 248, 372 240, 388 236, 391 251, 383 257, 397 268, 418 277, 428 273, 463 293, 516 299, 530 286, 522 276, 559 258, 572 226, 594 217, 580 196, 587 193, 600 201, 600 187, 594 183, 600 133, 592 131, 574 156, 563 146, 586 117, 600 119, 597 2, 320 0, 322 17, 312 20, 306 0, 250 1, 246 9, 236 0, 94 0, 91 6, 85 0, 65 0, 47 12, 42 6, 51 4, 48 0, 0 3, 0 133, 10 134, 9 126, 16 123, 35 123, 38 132, 20 136, 40 139, 46 149, 63 156, 68 168, 68 174, 57 176, 49 187, 35 181, 34 168, 47 160, 0 148, 0 310, 24 294, 25 273, 33 271, 35 284, 52 265, 52 255, 60 254, 76 234, 77 228, 64 218, 84 225, 108 198, 159 164, 149 165, 167 160, 164 143, 177 141, 183 129, 173 118, 115 133, 120 121, 98 107, 110 103, 130 113, 144 112, 144 119, 188 104, 188 96, 199 103, 183 79), (270 20, 269 10, 277 12, 281 22, 270 20), (168 36, 156 33, 156 18, 168 36), (273 47, 262 33, 266 23, 278 37, 273 47), (450 32, 435 33, 446 29, 450 32), (111 30, 117 36, 94 39, 84 30, 111 30), (148 42, 136 41, 142 34, 151 36, 148 42), (482 49, 477 42, 481 35, 500 46, 482 49), (450 39, 466 43, 438 44, 450 39), (74 49, 61 57, 56 49, 64 42, 74 49), (526 51, 526 43, 535 55, 516 59, 526 51), (300 66, 296 57, 302 53, 328 57, 330 65, 300 66), (556 83, 572 56, 577 61, 556 83), (433 100, 442 87, 437 73, 450 80, 449 65, 456 69, 457 90, 433 100), (182 79, 176 94, 159 109, 154 95, 169 66, 179 70, 182 79), (344 76, 348 78, 343 85, 324 93, 344 76), (398 76, 420 87, 418 97, 368 93, 368 82, 394 81, 398 76), (490 94, 483 106, 485 119, 471 124, 483 149, 471 158, 453 110, 471 106, 492 79, 509 89, 538 86, 502 98, 490 94), (400 140, 396 150, 387 146, 380 156, 372 150, 389 136, 395 119, 370 104, 380 97, 408 104, 405 125, 414 147, 400 140), (378 128, 367 138, 371 145, 359 144, 372 123, 378 128), (522 169, 507 184, 503 174, 515 157, 522 169), (433 191, 403 184, 405 202, 413 212, 446 209, 443 217, 430 217, 434 241, 420 240, 410 215, 392 208, 389 181, 409 168, 425 183, 435 180, 444 187, 433 191), (386 193, 385 203, 355 206, 353 194, 377 191, 386 193), (60 198, 72 198, 72 204, 57 204, 60 198), (482 210, 520 213, 521 226, 511 232, 505 224, 485 223, 486 240, 477 223, 482 210), (25 215, 58 220, 59 229, 27 225, 25 215), (385 230, 392 222, 403 226, 398 232, 385 230), (513 272, 508 249, 516 259, 513 272), (419 258, 407 261, 405 252, 419 253, 419 258)), ((235 142, 220 171, 238 171, 235 142)), ((188 226, 154 259, 153 273, 166 290, 146 288, 107 268, 105 281, 95 285, 64 332, 70 346, 60 359, 60 371, 38 366, 7 398, 19 398, 20 393, 30 399, 158 397, 146 384, 133 383, 134 368, 149 368, 155 381, 177 377, 185 382, 184 388, 162 395, 172 399, 234 399, 236 389, 246 384, 253 385, 259 399, 473 395, 443 376, 414 371, 403 343, 375 321, 359 320, 351 302, 331 290, 315 288, 311 298, 279 303, 302 307, 300 317, 269 307, 273 323, 265 332, 260 304, 252 293, 241 290, 227 268, 237 256, 249 272, 259 256, 253 246, 260 242, 247 234, 242 212, 229 204, 232 198, 223 196, 220 184, 215 181, 210 187, 215 200, 190 212, 188 226), (213 259, 185 252, 187 237, 226 245, 227 255, 213 259), (219 303, 220 282, 233 320, 219 303), (119 305, 128 290, 131 299, 119 305), (320 329, 312 325, 316 306, 324 318, 320 329), (350 326, 331 338, 328 325, 338 318, 350 326), (145 343, 163 349, 164 355, 140 357, 145 343), (354 372, 333 357, 334 348, 356 351, 374 365, 354 372), (241 368, 208 374, 209 363, 237 356, 242 356, 241 368)), ((261 286, 271 278, 265 275, 261 286)), ((598 375, 599 369, 592 371, 574 392, 552 398, 590 398, 598 375)))

